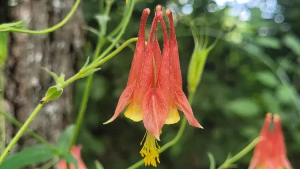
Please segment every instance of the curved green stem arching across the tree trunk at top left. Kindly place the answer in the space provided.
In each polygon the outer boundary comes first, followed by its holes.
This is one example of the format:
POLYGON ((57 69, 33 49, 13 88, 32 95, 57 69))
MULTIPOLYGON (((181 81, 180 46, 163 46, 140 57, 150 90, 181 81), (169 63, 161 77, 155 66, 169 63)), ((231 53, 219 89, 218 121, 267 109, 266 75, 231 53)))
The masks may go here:
POLYGON ((64 24, 66 24, 70 18, 73 16, 73 14, 75 13, 76 9, 78 8, 79 4, 80 4, 81 0, 77 0, 74 4, 74 6, 72 7, 71 11, 68 13, 68 15, 66 16, 66 18, 64 18, 60 23, 54 25, 51 28, 47 28, 44 30, 24 30, 24 29, 10 29, 10 32, 19 32, 19 33, 29 33, 29 34, 45 34, 45 33, 49 33, 49 32, 53 32, 56 29, 62 27, 64 24))

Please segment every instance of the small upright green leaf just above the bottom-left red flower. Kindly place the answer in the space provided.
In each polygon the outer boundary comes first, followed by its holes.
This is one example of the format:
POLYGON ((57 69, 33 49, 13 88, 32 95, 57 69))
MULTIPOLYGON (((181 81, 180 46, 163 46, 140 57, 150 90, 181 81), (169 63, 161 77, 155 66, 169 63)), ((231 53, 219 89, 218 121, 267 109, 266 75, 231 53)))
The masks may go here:
POLYGON ((75 125, 69 125, 66 130, 59 136, 57 141, 58 149, 63 152, 68 151, 69 145, 72 141, 75 125))

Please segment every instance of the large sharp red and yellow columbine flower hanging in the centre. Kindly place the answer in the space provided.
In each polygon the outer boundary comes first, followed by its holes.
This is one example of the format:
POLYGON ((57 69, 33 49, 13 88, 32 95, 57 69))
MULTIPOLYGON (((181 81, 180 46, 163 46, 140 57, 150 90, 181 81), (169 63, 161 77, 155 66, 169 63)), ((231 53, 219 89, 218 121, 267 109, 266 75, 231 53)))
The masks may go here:
POLYGON ((164 124, 174 124, 180 120, 178 110, 183 111, 190 125, 202 128, 195 119, 191 105, 182 90, 182 77, 179 66, 173 16, 167 10, 170 21, 170 40, 163 20, 162 7, 156 7, 155 17, 145 46, 145 24, 150 13, 143 11, 138 41, 133 56, 126 89, 121 94, 115 114, 104 124, 115 120, 128 105, 125 116, 133 121, 143 120, 146 133, 140 151, 145 165, 157 166, 159 163, 158 141, 164 124), (163 28, 163 54, 157 40, 157 27, 163 28), (154 38, 153 38, 154 34, 154 38), (153 42, 154 40, 154 42, 153 42))

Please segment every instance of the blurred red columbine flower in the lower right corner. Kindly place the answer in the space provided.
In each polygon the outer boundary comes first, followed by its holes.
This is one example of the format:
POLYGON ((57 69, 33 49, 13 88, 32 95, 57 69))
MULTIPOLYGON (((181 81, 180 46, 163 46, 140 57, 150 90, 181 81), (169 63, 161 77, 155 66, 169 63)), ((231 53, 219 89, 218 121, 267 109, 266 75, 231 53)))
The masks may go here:
POLYGON ((254 149, 254 155, 248 169, 292 169, 287 159, 284 136, 281 129, 280 116, 267 113, 259 136, 263 137, 254 149))

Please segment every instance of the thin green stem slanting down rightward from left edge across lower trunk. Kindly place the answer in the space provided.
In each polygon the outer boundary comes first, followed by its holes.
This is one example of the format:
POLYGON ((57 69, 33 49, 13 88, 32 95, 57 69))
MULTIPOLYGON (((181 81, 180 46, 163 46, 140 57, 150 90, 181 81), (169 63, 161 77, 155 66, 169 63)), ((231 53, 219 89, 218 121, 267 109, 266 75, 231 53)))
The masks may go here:
MULTIPOLYGON (((12 124, 16 125, 17 127, 22 127, 22 123, 20 123, 18 120, 16 120, 15 118, 13 118, 12 116, 4 113, 3 111, 0 111, 0 114, 3 115, 7 120, 9 120, 10 122, 12 122, 12 124)), ((51 148, 53 151, 59 153, 60 150, 58 148, 56 148, 55 146, 49 144, 46 140, 44 140, 41 136, 35 134, 32 130, 30 129, 26 129, 25 130, 30 136, 32 136, 34 139, 36 139, 37 141, 43 143, 44 145, 48 146, 49 148, 51 148)))

